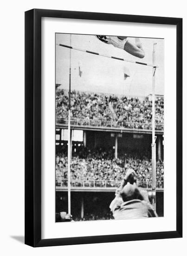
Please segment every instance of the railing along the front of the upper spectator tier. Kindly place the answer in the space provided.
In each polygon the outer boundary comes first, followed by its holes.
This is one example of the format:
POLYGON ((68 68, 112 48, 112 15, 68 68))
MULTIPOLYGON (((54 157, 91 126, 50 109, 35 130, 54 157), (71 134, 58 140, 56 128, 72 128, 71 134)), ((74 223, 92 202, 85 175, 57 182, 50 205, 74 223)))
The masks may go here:
MULTIPOLYGON (((68 125, 67 118, 57 118, 57 123, 68 125)), ((103 127, 103 128, 129 128, 129 129, 141 129, 141 130, 151 130, 151 123, 140 123, 140 122, 125 122, 125 121, 102 121, 102 120, 92 120, 92 119, 78 119, 71 118, 71 125, 85 126, 85 127, 103 127)), ((163 130, 163 123, 155 124, 156 130, 163 130)))

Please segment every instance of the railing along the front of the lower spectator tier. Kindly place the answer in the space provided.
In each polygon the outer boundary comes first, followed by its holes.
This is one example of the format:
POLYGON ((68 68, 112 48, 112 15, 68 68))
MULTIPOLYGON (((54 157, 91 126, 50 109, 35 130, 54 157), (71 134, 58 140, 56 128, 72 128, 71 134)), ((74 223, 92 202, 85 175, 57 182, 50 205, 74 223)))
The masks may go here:
MULTIPOLYGON (((79 180, 73 180, 71 181, 71 187, 81 187, 81 188, 118 188, 121 182, 119 181, 79 181, 79 180)), ((56 182, 56 186, 59 187, 67 187, 68 181, 62 180, 61 182, 56 182)), ((152 182, 138 182, 137 186, 144 188, 144 189, 151 189, 152 188, 152 182)), ((156 182, 156 188, 157 189, 163 189, 164 183, 163 182, 156 182)))

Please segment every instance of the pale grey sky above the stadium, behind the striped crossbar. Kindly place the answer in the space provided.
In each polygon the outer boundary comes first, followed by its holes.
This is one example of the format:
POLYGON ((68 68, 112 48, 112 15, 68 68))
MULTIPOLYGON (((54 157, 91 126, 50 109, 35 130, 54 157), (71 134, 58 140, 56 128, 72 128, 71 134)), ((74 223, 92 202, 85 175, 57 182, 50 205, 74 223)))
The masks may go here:
MULTIPOLYGON (((124 35, 125 36, 125 35, 124 35)), ((134 41, 134 38, 129 38, 134 41)), ((141 38, 145 57, 139 59, 122 49, 108 45, 94 35, 71 35, 71 46, 101 54, 113 55, 134 61, 152 63, 153 43, 156 42, 155 93, 164 94, 164 40, 141 38)), ((56 34, 56 43, 70 45, 70 34, 56 34)), ((56 83, 61 88, 69 88, 70 49, 56 45, 56 83)), ((97 93, 147 96, 152 93, 152 67, 118 61, 98 55, 71 50, 71 88, 97 93), (79 76, 79 66, 82 71, 79 76), (130 77, 124 80, 124 67, 130 77)))

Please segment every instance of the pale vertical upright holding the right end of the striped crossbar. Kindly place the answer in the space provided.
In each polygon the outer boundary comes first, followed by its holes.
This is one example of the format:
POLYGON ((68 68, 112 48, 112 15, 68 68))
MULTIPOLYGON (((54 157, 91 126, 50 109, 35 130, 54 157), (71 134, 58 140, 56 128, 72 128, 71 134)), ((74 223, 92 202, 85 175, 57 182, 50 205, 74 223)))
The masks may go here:
MULTIPOLYGON (((155 45, 153 45, 153 65, 155 65, 155 45)), ((152 81, 152 204, 156 210, 156 137, 155 137, 155 74, 156 67, 153 67, 152 81)))

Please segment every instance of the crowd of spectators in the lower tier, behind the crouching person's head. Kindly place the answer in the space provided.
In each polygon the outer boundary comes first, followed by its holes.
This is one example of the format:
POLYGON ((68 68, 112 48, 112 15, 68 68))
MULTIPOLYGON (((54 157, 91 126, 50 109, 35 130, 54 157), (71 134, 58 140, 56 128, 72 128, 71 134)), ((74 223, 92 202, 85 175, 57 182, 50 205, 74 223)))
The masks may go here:
MULTIPOLYGON (((82 148, 71 158, 71 185, 89 187, 117 187, 127 169, 133 168, 138 184, 151 188, 152 163, 150 156, 144 152, 125 154, 119 158, 113 157, 112 151, 101 148, 90 150, 82 148)), ((56 185, 67 186, 66 152, 56 155, 56 185)), ((156 182, 158 188, 163 188, 163 162, 156 162, 156 182)))

